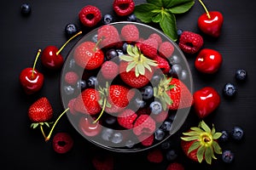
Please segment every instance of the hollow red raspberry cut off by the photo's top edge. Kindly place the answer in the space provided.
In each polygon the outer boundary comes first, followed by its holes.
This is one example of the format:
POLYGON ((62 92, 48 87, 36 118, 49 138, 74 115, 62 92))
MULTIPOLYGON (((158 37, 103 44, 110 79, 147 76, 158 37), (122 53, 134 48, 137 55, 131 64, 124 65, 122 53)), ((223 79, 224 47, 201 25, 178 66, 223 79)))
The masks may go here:
POLYGON ((133 0, 114 0, 113 11, 119 16, 131 14, 134 11, 135 3, 133 0))

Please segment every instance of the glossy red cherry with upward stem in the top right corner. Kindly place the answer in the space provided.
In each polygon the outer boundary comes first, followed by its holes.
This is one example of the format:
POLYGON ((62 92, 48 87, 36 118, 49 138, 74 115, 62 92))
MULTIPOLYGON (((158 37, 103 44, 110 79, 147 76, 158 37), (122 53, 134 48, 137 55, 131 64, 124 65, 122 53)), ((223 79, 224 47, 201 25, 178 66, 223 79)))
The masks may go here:
POLYGON ((211 37, 219 37, 221 33, 221 28, 223 26, 224 17, 218 11, 208 11, 205 4, 199 0, 206 13, 201 14, 201 16, 197 20, 197 25, 202 32, 211 36, 211 37))

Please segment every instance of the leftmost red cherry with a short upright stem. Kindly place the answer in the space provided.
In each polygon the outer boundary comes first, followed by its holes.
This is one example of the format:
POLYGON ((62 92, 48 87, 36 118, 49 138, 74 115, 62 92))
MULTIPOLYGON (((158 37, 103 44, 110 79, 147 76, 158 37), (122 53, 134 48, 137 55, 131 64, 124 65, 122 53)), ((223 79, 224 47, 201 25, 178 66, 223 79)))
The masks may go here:
POLYGON ((41 49, 38 49, 38 54, 32 68, 27 67, 20 72, 20 84, 26 94, 34 94, 43 87, 44 75, 35 69, 40 53, 41 49))

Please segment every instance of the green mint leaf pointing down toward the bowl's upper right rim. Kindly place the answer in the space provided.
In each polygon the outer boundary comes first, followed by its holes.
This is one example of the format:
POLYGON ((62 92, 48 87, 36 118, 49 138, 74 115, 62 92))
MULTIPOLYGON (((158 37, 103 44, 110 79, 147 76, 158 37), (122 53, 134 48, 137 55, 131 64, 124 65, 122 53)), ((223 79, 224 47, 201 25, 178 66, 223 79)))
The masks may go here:
POLYGON ((160 27, 168 37, 171 37, 173 41, 177 41, 177 26, 174 14, 165 13, 162 20, 160 20, 160 27))

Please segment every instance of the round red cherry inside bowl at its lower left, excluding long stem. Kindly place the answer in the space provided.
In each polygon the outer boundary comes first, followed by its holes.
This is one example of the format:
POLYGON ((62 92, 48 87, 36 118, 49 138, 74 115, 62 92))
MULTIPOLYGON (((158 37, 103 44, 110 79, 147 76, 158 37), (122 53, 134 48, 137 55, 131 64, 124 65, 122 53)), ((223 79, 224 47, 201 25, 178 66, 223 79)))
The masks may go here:
POLYGON ((90 117, 81 117, 79 121, 79 128, 86 136, 96 136, 102 130, 100 122, 94 122, 90 117))

